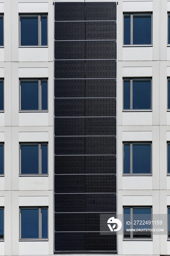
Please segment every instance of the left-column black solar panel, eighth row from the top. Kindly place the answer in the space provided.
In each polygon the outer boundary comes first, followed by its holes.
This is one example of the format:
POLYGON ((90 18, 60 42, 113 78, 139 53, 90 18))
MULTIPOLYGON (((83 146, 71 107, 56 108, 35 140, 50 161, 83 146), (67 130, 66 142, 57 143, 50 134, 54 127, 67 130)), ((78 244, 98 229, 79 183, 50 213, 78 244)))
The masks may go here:
POLYGON ((84 155, 85 137, 55 137, 55 155, 84 155))

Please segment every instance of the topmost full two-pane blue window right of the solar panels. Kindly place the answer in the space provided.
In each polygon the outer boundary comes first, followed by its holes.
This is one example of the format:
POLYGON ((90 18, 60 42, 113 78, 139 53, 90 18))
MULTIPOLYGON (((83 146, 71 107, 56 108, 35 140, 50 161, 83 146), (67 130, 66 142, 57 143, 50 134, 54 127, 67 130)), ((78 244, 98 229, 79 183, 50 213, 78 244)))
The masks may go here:
POLYGON ((124 14, 124 45, 150 45, 152 14, 124 14))

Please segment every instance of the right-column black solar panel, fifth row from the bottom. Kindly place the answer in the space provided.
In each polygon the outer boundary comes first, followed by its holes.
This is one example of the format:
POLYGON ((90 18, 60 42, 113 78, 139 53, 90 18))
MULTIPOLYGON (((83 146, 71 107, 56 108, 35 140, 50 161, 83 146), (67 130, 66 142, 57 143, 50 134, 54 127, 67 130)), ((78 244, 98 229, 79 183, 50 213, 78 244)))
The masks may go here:
POLYGON ((87 155, 86 173, 116 173, 116 156, 87 155))

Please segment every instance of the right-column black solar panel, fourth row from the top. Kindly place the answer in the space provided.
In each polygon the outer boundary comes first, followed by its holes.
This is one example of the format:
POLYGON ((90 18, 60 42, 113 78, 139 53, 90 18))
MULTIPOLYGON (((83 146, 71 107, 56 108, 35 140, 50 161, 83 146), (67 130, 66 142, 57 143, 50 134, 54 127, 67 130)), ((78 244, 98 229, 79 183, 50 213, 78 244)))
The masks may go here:
POLYGON ((116 60, 86 60, 86 78, 116 78, 116 60))

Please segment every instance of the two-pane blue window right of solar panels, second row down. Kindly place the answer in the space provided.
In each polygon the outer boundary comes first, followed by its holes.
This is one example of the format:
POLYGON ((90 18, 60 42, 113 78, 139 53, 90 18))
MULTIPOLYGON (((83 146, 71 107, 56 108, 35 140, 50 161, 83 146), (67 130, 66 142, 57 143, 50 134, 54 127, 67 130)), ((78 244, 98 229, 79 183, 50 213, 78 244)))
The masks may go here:
POLYGON ((151 78, 123 80, 123 109, 151 109, 151 78))

